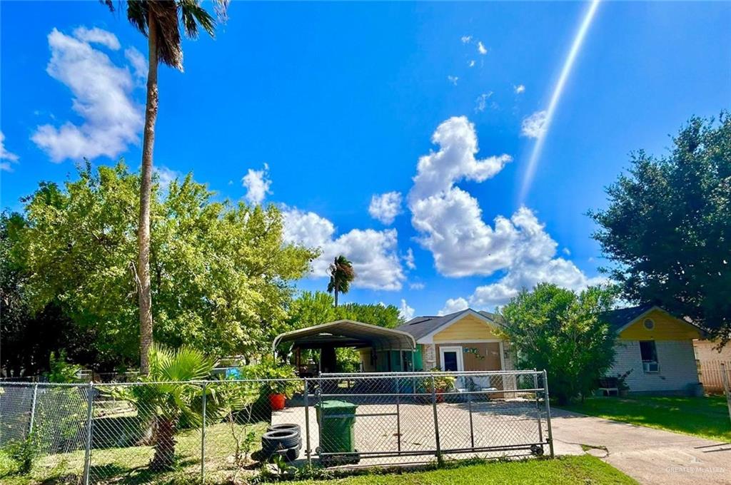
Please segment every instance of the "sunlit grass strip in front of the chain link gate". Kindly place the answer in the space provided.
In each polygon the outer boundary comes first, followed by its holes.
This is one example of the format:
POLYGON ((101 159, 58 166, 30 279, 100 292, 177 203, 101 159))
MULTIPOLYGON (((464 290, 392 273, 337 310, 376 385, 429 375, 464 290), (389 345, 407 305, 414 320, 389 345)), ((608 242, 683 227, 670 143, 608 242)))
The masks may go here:
POLYGON ((529 459, 522 462, 487 462, 442 470, 368 474, 320 481, 287 482, 292 485, 490 485, 561 484, 605 485, 637 484, 621 471, 590 455, 553 460, 529 459))

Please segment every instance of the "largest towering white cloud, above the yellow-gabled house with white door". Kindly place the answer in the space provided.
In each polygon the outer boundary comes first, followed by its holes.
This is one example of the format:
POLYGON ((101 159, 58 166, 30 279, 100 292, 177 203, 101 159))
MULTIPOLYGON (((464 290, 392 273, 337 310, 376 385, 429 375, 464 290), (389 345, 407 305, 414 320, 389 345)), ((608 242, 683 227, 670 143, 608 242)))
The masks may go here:
POLYGON ((447 302, 444 312, 465 308, 493 309, 518 291, 540 281, 569 289, 601 283, 588 278, 567 259, 557 257, 558 243, 527 207, 510 217, 497 215, 492 224, 482 219, 477 199, 455 186, 459 180, 482 182, 496 175, 510 156, 475 159, 477 134, 466 118, 450 118, 433 134, 439 151, 419 159, 414 186, 409 192, 412 225, 418 241, 431 251, 442 275, 463 277, 499 273, 493 283, 480 286, 468 299, 447 302))

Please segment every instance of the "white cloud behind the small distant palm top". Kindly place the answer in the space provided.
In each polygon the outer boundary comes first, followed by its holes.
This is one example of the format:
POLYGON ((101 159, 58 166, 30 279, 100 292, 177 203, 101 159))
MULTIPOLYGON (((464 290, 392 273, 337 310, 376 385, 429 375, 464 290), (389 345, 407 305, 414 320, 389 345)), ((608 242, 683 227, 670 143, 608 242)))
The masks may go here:
POLYGON ((400 290, 406 279, 398 257, 398 233, 395 229, 352 229, 336 237, 332 222, 313 212, 284 207, 284 240, 321 248, 322 254, 312 262, 311 275, 327 276, 333 259, 343 254, 353 263, 353 286, 379 290, 400 290))

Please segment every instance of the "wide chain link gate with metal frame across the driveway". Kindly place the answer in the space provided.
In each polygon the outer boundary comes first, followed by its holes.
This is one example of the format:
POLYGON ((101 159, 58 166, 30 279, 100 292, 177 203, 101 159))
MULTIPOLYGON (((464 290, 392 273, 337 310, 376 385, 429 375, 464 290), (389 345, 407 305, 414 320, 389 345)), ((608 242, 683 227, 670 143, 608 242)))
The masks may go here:
POLYGON ((315 419, 306 412, 306 427, 317 427, 308 438, 318 443, 314 450, 307 446, 308 461, 317 455, 327 465, 369 466, 463 454, 553 457, 544 372, 322 374, 306 381, 307 401, 314 401, 316 411, 315 419), (354 410, 325 413, 333 401, 336 409, 341 401, 354 410), (350 431, 333 429, 328 420, 349 421, 352 449, 344 449, 348 436, 333 435, 350 431))

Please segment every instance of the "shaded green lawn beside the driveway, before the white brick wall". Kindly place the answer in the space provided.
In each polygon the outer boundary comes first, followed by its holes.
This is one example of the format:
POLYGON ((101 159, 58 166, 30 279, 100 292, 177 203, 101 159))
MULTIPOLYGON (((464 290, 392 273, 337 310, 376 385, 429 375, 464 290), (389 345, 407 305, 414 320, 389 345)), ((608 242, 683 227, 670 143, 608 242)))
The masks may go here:
POLYGON ((562 408, 709 440, 731 442, 731 421, 726 398, 721 396, 591 397, 583 403, 562 408))

